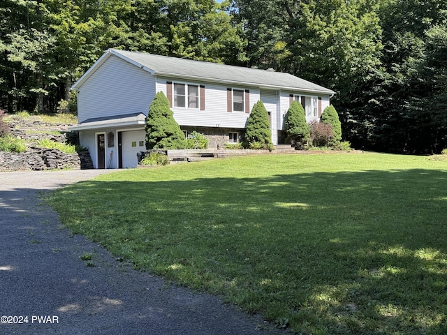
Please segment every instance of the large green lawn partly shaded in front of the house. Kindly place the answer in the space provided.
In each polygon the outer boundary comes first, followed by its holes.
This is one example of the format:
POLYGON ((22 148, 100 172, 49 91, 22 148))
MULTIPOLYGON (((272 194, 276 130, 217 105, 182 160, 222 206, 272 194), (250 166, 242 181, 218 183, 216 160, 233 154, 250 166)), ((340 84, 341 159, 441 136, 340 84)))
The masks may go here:
POLYGON ((447 162, 228 158, 52 193, 74 232, 135 268, 302 334, 447 334, 447 162))

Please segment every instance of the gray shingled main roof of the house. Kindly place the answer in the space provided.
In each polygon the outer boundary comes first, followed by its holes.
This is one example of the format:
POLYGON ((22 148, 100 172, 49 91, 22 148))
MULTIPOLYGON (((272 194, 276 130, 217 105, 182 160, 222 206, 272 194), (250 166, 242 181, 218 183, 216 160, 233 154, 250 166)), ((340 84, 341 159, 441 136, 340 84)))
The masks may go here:
POLYGON ((259 87, 274 87, 277 89, 293 89, 299 91, 314 91, 334 94, 334 91, 321 87, 307 80, 288 73, 280 73, 255 68, 243 68, 216 64, 207 61, 193 61, 175 57, 159 56, 142 52, 130 52, 110 49, 107 52, 131 61, 133 64, 147 68, 155 75, 196 78, 219 82, 234 82, 237 84, 254 84, 259 87))

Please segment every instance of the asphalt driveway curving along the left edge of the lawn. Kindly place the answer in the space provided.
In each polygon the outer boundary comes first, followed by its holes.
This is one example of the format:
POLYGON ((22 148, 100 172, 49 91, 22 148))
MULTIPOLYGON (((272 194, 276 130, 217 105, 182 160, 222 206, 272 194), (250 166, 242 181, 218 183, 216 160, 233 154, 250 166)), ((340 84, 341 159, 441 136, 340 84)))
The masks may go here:
POLYGON ((218 297, 131 269, 38 200, 108 172, 0 172, 0 334, 284 334, 218 297))

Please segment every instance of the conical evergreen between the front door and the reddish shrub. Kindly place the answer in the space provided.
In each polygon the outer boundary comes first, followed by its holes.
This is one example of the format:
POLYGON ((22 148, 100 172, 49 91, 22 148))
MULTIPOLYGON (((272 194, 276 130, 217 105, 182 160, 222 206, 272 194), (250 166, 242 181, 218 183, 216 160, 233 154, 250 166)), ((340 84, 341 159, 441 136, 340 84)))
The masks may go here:
POLYGON ((293 101, 287 110, 286 133, 295 147, 303 147, 310 139, 305 109, 298 101, 293 101))

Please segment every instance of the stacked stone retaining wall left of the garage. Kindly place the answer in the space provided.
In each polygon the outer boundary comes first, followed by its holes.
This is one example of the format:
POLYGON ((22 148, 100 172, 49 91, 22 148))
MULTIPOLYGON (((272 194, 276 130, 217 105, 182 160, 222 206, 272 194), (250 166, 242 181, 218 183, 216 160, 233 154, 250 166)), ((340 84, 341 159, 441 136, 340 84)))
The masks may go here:
POLYGON ((30 148, 17 154, 0 151, 0 171, 52 170, 52 169, 92 169, 88 151, 65 154, 58 149, 30 148))

